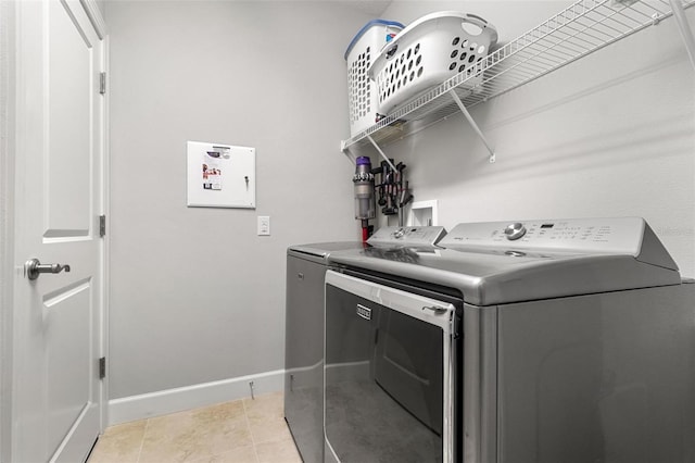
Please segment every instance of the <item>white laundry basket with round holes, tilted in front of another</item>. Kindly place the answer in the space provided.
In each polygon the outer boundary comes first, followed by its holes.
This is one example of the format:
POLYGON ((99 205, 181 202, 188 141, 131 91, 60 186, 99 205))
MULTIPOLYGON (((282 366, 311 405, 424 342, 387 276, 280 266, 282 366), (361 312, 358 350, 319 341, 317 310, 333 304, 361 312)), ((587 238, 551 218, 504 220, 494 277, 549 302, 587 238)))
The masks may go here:
MULTIPOLYGON (((378 91, 377 112, 397 105, 476 65, 497 42, 497 32, 475 14, 443 11, 409 24, 387 46, 368 71, 378 91)), ((467 80, 468 88, 482 73, 467 80)))

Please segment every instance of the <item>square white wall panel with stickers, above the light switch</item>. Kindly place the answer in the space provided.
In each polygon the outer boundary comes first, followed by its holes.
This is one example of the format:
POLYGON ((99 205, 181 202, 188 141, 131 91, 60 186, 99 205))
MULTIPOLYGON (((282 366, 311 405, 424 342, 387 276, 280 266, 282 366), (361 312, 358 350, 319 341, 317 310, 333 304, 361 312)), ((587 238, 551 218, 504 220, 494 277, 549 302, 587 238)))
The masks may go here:
POLYGON ((188 141, 188 207, 256 207, 256 149, 188 141))

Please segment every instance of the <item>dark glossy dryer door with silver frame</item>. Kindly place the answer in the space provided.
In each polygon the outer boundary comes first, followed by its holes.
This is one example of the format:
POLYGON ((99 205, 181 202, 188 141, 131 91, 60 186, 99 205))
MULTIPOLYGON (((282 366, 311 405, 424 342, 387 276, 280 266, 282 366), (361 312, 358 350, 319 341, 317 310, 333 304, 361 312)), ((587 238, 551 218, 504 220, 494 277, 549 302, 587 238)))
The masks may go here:
POLYGON ((325 429, 343 462, 453 458, 454 305, 329 271, 325 429))

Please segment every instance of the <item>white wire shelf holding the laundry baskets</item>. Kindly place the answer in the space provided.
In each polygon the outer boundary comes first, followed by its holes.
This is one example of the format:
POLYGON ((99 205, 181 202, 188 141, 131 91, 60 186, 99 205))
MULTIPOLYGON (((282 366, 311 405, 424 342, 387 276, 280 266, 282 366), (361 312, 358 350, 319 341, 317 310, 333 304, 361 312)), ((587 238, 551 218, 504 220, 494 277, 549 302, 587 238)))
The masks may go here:
MULTIPOLYGON (((677 0, 680 1, 680 0, 677 0)), ((683 8, 695 0, 683 1, 683 8)), ((342 142, 342 150, 376 142, 388 145, 408 135, 412 121, 438 120, 458 111, 451 98, 455 91, 466 108, 472 108, 542 77, 657 24, 673 14, 669 0, 580 0, 538 27, 490 53, 475 67, 403 104, 366 130, 342 142), (462 84, 483 75, 470 89, 462 84)))

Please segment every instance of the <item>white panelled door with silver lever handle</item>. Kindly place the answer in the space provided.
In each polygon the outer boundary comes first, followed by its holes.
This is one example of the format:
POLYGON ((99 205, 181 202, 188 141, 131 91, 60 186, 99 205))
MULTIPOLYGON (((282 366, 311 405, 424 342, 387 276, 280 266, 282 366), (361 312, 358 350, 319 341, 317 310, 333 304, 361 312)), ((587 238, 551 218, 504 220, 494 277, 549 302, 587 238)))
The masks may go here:
POLYGON ((12 461, 84 461, 101 429, 103 41, 79 0, 20 1, 12 461))

